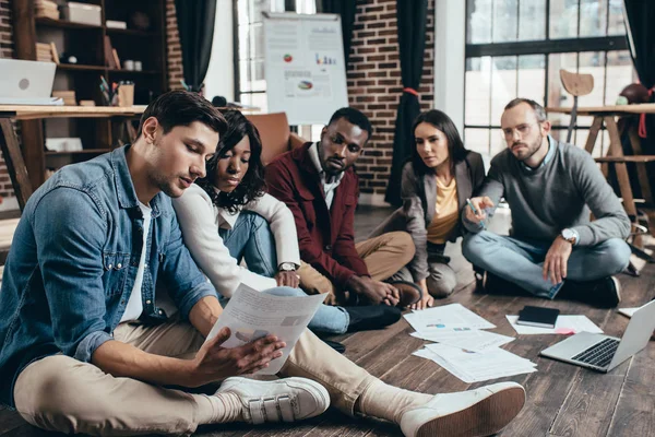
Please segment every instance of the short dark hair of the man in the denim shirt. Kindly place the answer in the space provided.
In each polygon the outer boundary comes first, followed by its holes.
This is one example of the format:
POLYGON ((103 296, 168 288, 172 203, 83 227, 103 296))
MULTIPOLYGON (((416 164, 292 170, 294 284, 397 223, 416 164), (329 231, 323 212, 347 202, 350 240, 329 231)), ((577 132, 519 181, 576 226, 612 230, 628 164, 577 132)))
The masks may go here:
POLYGON ((143 123, 151 117, 157 119, 165 134, 176 126, 189 126, 194 121, 207 126, 221 137, 227 130, 227 122, 218 109, 200 94, 188 91, 169 91, 151 102, 141 116, 136 137, 141 137, 143 123))

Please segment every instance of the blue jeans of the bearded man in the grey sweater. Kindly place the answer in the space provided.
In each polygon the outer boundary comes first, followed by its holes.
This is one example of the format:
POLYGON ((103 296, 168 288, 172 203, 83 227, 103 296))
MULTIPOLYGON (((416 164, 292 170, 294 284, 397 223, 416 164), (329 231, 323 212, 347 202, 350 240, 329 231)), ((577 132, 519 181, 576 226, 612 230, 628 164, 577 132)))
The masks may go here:
MULTIPOLYGON (((468 234, 462 243, 464 257, 474 265, 513 282, 529 293, 552 299, 563 282, 544 280, 544 259, 551 241, 516 239, 489 231, 468 234)), ((599 280, 620 273, 630 262, 630 246, 610 238, 595 246, 573 247, 567 279, 576 282, 599 280)))

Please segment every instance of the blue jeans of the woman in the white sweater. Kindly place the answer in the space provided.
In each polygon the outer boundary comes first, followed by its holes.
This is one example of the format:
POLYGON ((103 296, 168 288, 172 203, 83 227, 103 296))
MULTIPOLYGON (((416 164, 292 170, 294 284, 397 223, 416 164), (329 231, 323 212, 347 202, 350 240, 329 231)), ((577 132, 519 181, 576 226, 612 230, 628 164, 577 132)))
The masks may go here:
MULTIPOLYGON (((275 238, 269 222, 261 215, 241 211, 231 229, 218 229, 229 255, 240 263, 246 260, 248 269, 262 276, 273 277, 277 273, 277 255, 275 238)), ((306 296, 300 288, 288 286, 266 290, 265 293, 276 296, 306 296)), ((343 334, 348 329, 350 316, 342 307, 321 305, 314 317, 309 321, 312 331, 330 334, 343 334)))

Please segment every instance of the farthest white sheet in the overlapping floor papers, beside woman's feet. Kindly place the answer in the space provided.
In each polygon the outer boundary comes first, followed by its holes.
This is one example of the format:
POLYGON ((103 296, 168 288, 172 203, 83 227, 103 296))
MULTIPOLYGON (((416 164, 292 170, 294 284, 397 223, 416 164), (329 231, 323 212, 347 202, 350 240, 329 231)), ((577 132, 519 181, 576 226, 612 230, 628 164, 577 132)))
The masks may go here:
POLYGON ((460 304, 414 311, 405 315, 405 320, 420 334, 496 328, 495 324, 460 304))

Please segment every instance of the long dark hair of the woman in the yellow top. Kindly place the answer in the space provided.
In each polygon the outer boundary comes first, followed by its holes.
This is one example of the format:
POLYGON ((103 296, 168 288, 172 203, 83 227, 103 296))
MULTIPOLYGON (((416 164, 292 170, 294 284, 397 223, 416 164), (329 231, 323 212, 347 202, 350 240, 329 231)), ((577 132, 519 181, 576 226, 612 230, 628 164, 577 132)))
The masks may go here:
POLYGON ((419 174, 433 172, 432 168, 428 167, 426 163, 424 163, 416 147, 416 138, 414 137, 414 132, 416 132, 418 125, 422 122, 432 125, 434 128, 443 132, 445 139, 448 140, 448 155, 452 165, 464 161, 468 151, 464 147, 464 142, 462 141, 462 137, 460 137, 460 132, 457 131, 455 123, 445 113, 439 109, 430 109, 426 113, 419 114, 412 126, 412 140, 414 141, 412 147, 412 162, 414 164, 415 172, 419 174))

